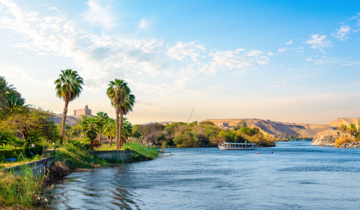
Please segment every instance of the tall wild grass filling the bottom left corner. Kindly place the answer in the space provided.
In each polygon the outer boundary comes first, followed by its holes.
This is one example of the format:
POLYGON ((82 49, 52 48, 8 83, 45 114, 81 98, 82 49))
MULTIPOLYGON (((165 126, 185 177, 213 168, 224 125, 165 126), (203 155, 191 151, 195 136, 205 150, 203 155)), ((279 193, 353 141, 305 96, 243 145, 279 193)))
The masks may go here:
POLYGON ((1 206, 44 207, 48 200, 41 195, 46 175, 34 177, 30 166, 20 167, 21 175, 0 170, 0 209, 1 206))

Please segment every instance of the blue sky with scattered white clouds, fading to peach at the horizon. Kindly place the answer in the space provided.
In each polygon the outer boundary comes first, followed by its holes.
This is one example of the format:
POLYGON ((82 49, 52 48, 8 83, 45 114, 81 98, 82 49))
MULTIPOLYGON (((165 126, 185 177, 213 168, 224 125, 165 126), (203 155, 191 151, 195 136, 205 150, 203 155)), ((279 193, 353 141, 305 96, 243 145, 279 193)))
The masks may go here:
POLYGON ((119 78, 133 124, 359 117, 360 1, 0 0, 0 76, 27 104, 62 113, 67 68, 85 83, 69 115, 115 117, 119 78))

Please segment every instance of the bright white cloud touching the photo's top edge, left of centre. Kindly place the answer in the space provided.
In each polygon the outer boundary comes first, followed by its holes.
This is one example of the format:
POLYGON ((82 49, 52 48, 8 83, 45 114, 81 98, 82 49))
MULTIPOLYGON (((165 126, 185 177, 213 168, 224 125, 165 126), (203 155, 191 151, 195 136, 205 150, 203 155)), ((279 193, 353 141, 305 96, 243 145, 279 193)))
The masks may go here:
POLYGON ((84 13, 85 21, 88 21, 96 26, 102 26, 109 30, 114 27, 114 15, 111 11, 111 6, 102 5, 97 0, 89 0, 86 2, 89 9, 84 13))

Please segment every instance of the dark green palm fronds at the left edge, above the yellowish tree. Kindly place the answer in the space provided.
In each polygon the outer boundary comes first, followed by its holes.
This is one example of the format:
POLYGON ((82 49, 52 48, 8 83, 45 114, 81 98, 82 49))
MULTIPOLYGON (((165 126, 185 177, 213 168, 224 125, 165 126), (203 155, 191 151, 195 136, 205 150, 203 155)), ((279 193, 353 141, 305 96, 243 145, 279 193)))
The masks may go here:
POLYGON ((0 111, 12 113, 13 110, 21 108, 24 103, 25 99, 16 88, 0 76, 0 111))

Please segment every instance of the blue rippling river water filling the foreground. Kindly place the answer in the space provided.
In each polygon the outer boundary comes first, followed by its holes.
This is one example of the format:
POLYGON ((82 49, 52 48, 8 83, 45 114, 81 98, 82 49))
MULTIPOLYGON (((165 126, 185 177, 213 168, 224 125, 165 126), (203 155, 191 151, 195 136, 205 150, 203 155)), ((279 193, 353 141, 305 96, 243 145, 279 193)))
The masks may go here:
POLYGON ((360 209, 360 148, 279 142, 254 151, 169 148, 156 160, 72 173, 59 209, 360 209), (271 154, 271 150, 274 153, 271 154))

